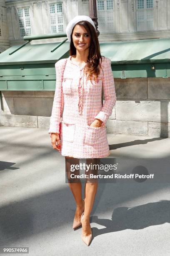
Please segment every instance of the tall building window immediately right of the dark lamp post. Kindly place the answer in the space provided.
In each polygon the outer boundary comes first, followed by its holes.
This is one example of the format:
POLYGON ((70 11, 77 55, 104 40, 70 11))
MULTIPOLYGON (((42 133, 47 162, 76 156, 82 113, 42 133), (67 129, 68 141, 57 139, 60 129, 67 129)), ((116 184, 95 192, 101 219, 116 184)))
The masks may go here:
POLYGON ((114 0, 97 0, 98 28, 102 33, 114 31, 114 0))

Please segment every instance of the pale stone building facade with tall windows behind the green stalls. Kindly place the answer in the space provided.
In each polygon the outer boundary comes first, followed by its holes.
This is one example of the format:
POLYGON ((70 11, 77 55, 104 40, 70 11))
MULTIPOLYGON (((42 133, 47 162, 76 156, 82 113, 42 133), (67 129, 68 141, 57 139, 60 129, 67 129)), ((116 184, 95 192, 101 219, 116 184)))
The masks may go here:
MULTIPOLYGON (((0 51, 24 35, 65 32, 75 15, 89 15, 88 0, 0 0, 0 51)), ((97 0, 100 41, 166 38, 169 0, 97 0)), ((39 41, 41 43, 41 41, 39 41)))

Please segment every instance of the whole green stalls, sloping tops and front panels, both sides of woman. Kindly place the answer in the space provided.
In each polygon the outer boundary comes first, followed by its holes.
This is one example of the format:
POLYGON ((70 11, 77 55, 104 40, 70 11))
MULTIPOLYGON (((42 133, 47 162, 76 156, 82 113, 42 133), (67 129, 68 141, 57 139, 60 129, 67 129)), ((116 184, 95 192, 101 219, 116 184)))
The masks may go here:
MULTIPOLYGON (((55 62, 69 56, 70 43, 30 44, 29 37, 27 40, 25 45, 12 46, 0 54, 0 90, 55 90, 55 62)), ((170 38, 114 41, 100 43, 100 50, 111 59, 115 78, 167 78, 169 45, 170 38)))

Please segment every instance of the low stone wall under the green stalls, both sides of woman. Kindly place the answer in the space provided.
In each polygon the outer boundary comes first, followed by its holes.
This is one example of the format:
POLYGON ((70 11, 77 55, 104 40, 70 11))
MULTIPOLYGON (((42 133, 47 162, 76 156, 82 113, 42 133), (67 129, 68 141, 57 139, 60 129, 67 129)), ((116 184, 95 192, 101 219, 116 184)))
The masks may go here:
MULTIPOLYGON (((170 78, 115 78, 107 133, 170 136, 170 78)), ((4 91, 0 125, 49 128, 54 92, 4 91)))

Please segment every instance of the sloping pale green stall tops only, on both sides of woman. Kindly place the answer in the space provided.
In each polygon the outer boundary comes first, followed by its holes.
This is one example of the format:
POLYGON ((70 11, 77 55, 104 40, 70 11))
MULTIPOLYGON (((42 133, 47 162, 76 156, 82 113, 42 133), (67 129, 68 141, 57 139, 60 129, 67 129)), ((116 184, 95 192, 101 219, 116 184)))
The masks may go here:
MULTIPOLYGON (((21 45, 12 46, 0 54, 0 65, 54 63, 69 51, 70 43, 27 44, 12 55, 21 45)), ((170 62, 170 38, 114 41, 100 43, 101 54, 112 64, 143 64, 170 62)))

